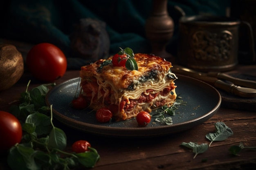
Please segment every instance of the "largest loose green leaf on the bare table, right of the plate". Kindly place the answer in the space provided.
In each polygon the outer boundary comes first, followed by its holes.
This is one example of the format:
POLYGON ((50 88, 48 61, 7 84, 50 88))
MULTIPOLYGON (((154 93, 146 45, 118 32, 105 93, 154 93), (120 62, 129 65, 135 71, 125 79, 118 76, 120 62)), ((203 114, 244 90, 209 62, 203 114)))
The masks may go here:
MULTIPOLYGON (((231 128, 226 126, 225 123, 223 122, 217 122, 215 124, 215 128, 216 128, 215 133, 208 133, 207 135, 205 135, 205 137, 209 139, 211 143, 213 141, 224 141, 228 137, 233 135, 233 131, 231 130, 231 128)), ((209 144, 209 146, 211 146, 211 143, 209 144)))

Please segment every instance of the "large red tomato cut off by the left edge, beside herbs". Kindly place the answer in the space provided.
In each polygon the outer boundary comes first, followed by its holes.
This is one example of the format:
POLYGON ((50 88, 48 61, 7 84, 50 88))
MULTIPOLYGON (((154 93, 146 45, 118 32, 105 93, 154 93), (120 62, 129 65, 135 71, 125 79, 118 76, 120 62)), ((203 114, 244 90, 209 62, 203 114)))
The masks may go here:
POLYGON ((20 121, 11 113, 0 111, 0 150, 10 149, 22 138, 20 121))

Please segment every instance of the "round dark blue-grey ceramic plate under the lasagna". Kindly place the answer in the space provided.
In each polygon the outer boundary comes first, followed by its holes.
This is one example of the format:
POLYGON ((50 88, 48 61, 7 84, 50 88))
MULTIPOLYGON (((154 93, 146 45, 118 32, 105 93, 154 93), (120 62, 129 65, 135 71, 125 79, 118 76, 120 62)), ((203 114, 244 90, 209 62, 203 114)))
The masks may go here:
POLYGON ((176 93, 187 103, 185 106, 180 105, 175 111, 176 115, 171 116, 172 125, 160 124, 154 119, 146 127, 138 127, 136 119, 103 124, 97 122, 95 112, 75 110, 69 105, 76 93, 79 78, 70 79, 52 88, 47 93, 46 103, 48 106, 52 104, 56 119, 77 130, 116 137, 167 135, 202 124, 218 111, 221 104, 220 93, 212 86, 183 75, 177 77, 176 93))

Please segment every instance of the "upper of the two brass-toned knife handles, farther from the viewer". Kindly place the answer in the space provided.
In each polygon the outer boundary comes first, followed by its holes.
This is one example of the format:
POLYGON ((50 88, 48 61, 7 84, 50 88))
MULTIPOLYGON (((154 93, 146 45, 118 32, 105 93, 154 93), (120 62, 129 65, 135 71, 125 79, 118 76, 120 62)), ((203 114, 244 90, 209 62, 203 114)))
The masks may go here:
POLYGON ((209 72, 209 73, 207 73, 207 75, 209 75, 211 77, 217 77, 219 79, 226 79, 226 80, 228 80, 236 85, 239 85, 239 86, 245 86, 245 87, 256 89, 256 81, 239 79, 239 78, 227 75, 225 73, 219 73, 219 72, 209 72))

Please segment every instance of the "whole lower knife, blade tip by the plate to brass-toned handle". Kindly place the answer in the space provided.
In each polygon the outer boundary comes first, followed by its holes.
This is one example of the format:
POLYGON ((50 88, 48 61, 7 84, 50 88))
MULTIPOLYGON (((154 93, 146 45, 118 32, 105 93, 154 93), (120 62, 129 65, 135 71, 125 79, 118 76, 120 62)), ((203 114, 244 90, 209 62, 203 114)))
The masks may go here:
POLYGON ((240 97, 246 97, 246 98, 256 97, 256 89, 254 88, 236 86, 235 84, 226 83, 218 79, 217 77, 210 77, 210 76, 207 76, 207 74, 205 73, 199 73, 189 68, 184 68, 184 69, 183 68, 184 67, 182 67, 182 69, 179 67, 177 68, 172 67, 171 70, 173 73, 178 73, 182 75, 191 76, 196 79, 200 79, 203 82, 210 84, 211 86, 214 86, 216 88, 219 88, 228 92, 229 94, 237 95, 240 97))

